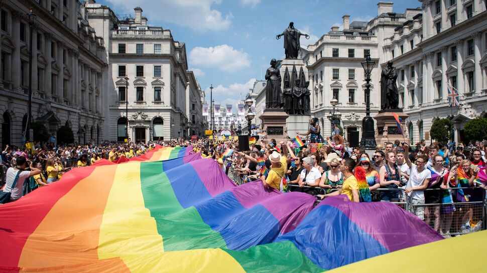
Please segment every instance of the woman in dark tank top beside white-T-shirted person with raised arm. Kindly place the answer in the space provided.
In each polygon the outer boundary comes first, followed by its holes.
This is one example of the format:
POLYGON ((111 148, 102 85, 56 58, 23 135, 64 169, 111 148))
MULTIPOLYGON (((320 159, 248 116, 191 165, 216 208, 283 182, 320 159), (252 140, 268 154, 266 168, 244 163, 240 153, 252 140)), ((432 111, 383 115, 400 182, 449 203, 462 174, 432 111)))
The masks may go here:
POLYGON ((381 201, 398 202, 399 187, 401 186, 401 171, 396 164, 396 154, 394 152, 388 152, 386 154, 386 164, 379 170, 379 178, 381 186, 387 189, 381 191, 381 201))

